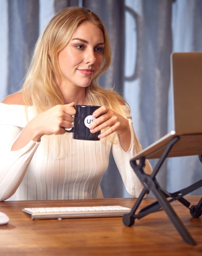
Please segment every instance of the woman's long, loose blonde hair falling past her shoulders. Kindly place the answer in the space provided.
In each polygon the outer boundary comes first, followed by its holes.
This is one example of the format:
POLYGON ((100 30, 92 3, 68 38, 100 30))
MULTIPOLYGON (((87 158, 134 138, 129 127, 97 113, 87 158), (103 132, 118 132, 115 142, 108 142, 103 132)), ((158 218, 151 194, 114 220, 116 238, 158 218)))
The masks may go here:
POLYGON ((61 77, 58 55, 70 42, 77 27, 86 21, 102 29, 105 43, 103 63, 86 88, 86 101, 91 105, 106 105, 124 115, 120 104, 126 103, 124 99, 117 92, 100 87, 97 82, 98 77, 108 69, 111 62, 110 41, 105 25, 94 12, 79 7, 68 7, 58 12, 36 43, 22 88, 26 105, 32 105, 36 113, 57 104, 64 104, 57 82, 61 77))

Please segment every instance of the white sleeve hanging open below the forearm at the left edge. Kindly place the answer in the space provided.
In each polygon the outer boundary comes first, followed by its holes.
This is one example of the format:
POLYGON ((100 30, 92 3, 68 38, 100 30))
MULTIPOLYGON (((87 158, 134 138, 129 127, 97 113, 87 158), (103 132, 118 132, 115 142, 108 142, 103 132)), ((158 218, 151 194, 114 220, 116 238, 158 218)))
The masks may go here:
POLYGON ((39 146, 39 142, 29 141, 24 148, 11 151, 21 131, 21 127, 0 124, 0 201, 8 199, 15 193, 39 146))

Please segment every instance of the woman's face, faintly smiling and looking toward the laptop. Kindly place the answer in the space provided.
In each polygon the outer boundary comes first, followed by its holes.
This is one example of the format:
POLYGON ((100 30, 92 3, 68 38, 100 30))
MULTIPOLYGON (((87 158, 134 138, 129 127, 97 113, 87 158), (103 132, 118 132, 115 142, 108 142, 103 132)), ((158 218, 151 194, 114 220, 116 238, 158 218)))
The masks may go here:
POLYGON ((104 35, 91 22, 78 26, 72 39, 59 53, 63 77, 60 87, 88 87, 103 63, 104 35))

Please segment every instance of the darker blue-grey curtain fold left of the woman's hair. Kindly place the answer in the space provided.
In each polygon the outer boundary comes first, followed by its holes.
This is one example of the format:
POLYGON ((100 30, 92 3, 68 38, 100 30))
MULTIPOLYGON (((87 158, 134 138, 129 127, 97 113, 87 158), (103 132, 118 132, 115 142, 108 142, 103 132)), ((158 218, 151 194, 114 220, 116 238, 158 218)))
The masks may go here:
POLYGON ((7 94, 20 89, 38 36, 39 1, 8 0, 7 94))

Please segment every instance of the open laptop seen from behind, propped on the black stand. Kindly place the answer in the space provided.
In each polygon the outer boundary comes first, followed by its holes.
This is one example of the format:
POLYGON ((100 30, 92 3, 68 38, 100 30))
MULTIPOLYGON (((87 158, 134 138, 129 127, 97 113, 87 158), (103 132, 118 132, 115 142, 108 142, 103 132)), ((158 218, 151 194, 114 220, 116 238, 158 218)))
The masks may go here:
POLYGON ((171 54, 173 127, 131 161, 160 158, 167 143, 179 136, 167 157, 202 155, 202 52, 171 54))

